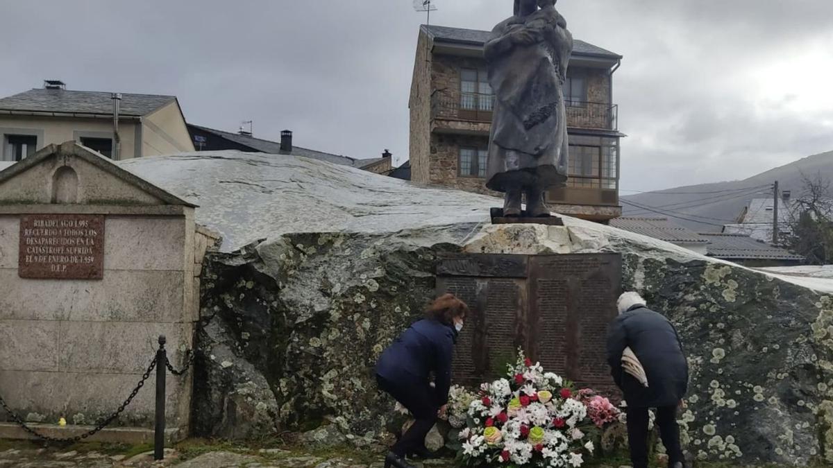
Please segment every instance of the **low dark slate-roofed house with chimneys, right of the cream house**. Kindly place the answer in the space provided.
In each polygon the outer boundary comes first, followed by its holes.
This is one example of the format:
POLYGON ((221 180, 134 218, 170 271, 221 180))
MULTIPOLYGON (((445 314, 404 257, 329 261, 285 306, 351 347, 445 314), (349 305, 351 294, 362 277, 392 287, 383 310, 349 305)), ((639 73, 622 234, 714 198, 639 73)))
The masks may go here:
POLYGON ((187 124, 188 132, 197 151, 237 150, 242 152, 265 152, 269 154, 287 154, 300 157, 312 157, 321 161, 332 162, 342 166, 356 167, 362 171, 387 174, 392 169, 392 153, 385 150, 381 157, 356 159, 329 152, 320 152, 298 147, 292 142, 292 131, 281 132, 281 141, 272 142, 252 136, 251 132, 241 130, 237 133, 224 132, 214 128, 187 124))

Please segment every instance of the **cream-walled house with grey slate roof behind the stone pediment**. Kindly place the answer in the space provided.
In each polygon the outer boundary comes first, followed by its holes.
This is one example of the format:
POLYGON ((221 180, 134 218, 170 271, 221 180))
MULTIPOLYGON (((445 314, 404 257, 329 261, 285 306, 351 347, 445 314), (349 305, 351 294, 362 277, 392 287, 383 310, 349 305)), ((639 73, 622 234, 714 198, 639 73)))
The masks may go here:
POLYGON ((177 97, 118 94, 114 138, 114 96, 67 90, 63 82, 50 80, 42 88, 0 98, 0 161, 21 161, 69 140, 112 159, 194 151, 177 97))

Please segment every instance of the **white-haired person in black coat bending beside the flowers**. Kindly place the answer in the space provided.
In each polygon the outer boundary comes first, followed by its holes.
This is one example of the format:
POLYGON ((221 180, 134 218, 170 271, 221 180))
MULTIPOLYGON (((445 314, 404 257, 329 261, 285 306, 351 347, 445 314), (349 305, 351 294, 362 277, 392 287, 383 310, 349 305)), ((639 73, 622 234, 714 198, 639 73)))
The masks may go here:
POLYGON ((680 336, 665 316, 646 307, 636 292, 626 292, 616 302, 619 316, 607 330, 607 362, 627 402, 627 432, 633 468, 648 466, 648 408, 656 408, 656 425, 668 453, 668 466, 684 468, 677 407, 688 387, 688 362, 680 336), (648 377, 648 386, 622 371, 626 347, 636 354, 648 377))

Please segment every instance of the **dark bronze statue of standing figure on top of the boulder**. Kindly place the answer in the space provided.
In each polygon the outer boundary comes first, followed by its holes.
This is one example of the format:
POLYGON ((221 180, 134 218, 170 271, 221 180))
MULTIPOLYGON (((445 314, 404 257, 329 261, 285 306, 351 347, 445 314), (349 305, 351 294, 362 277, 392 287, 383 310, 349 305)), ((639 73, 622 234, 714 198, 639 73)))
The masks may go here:
POLYGON ((548 217, 547 189, 566 182, 567 127, 563 87, 572 35, 556 0, 515 0, 515 15, 486 42, 495 107, 486 187, 505 192, 503 216, 548 217))

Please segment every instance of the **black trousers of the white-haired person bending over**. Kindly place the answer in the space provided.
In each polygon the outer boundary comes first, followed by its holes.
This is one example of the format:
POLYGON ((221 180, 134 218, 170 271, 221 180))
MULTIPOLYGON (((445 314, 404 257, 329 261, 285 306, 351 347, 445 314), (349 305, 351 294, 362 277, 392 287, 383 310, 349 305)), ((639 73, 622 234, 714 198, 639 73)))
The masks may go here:
MULTIPOLYGON (((680 447, 680 426, 676 422, 676 406, 656 409, 656 426, 660 428, 662 445, 666 446, 668 465, 686 460, 680 447)), ((648 408, 631 407, 627 410, 627 437, 631 447, 633 468, 648 468, 648 408)))

